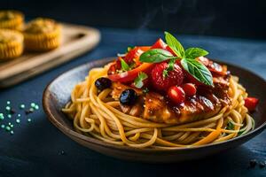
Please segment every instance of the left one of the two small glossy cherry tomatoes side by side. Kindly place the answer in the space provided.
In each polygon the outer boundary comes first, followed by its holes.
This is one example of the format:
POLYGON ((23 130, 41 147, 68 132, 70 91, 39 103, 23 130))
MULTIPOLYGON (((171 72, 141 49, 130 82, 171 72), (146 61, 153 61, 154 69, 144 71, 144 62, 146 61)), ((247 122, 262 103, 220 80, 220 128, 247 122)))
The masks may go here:
POLYGON ((172 86, 168 89, 168 97, 175 104, 182 104, 184 103, 185 99, 184 89, 181 87, 172 86))

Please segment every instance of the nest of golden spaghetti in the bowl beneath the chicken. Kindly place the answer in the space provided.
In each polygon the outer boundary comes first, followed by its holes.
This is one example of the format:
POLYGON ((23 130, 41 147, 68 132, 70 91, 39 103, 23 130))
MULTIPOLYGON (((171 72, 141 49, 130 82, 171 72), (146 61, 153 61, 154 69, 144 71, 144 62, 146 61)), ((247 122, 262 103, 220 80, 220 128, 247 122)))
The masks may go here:
POLYGON ((83 135, 135 148, 169 149, 223 142, 254 129, 254 119, 245 107, 246 89, 237 77, 231 76, 229 80, 230 105, 210 118, 171 125, 121 112, 119 101, 110 96, 112 89, 98 94, 94 82, 107 77, 109 67, 91 69, 85 81, 74 87, 71 101, 62 110, 83 135))

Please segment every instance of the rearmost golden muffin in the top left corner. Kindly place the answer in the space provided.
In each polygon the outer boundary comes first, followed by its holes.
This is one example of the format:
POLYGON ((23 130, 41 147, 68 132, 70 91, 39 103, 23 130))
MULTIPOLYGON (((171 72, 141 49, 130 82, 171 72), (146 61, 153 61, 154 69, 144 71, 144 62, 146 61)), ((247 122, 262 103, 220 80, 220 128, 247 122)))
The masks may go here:
POLYGON ((22 30, 24 15, 18 11, 0 11, 0 28, 22 30))

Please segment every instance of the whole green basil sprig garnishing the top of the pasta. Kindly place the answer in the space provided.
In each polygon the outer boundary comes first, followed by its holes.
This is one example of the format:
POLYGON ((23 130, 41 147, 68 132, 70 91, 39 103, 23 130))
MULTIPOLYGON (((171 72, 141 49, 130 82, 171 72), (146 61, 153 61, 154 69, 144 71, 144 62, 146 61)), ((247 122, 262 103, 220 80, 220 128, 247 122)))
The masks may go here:
POLYGON ((200 48, 189 48, 184 50, 184 47, 178 42, 176 37, 168 32, 165 32, 165 39, 168 47, 175 52, 176 57, 168 50, 153 49, 145 51, 140 56, 140 61, 145 63, 160 63, 169 60, 168 68, 163 71, 163 76, 166 77, 168 72, 174 69, 174 61, 179 59, 181 60, 181 65, 184 70, 190 73, 196 80, 206 85, 214 85, 213 76, 207 67, 195 59, 201 56, 206 56, 208 54, 207 50, 200 48))

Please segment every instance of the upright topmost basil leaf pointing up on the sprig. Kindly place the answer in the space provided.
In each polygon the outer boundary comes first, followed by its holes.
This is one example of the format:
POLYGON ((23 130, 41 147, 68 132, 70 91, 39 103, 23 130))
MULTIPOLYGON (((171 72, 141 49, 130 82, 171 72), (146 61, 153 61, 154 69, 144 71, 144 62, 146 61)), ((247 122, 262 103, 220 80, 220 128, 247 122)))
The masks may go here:
POLYGON ((168 32, 164 32, 164 34, 165 34, 165 40, 168 46, 171 48, 171 50, 173 50, 179 58, 183 58, 184 47, 182 46, 182 44, 177 41, 176 37, 169 34, 168 32))

